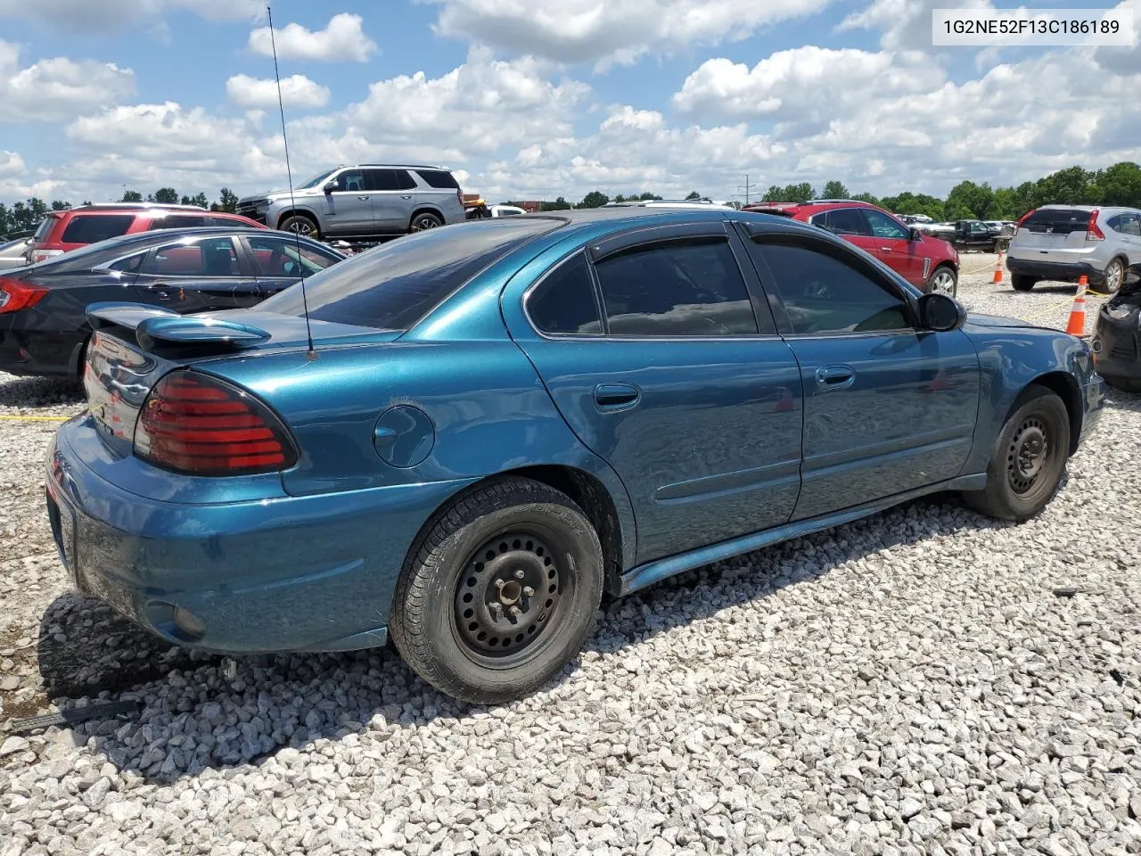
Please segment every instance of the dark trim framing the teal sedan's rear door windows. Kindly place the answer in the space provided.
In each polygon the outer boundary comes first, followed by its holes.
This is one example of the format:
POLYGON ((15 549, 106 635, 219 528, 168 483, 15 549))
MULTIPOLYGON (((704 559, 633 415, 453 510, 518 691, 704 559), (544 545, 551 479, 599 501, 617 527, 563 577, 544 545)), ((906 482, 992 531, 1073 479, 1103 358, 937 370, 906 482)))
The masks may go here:
POLYGON ((718 220, 718 221, 706 221, 706 223, 686 223, 686 224, 666 224, 665 226, 638 226, 626 232, 618 233, 616 235, 608 235, 605 240, 599 242, 588 242, 585 245, 576 247, 574 250, 568 252, 558 259, 551 267, 543 272, 542 276, 536 278, 531 283, 526 290, 524 290, 523 296, 519 298, 519 308, 523 312, 524 320, 527 322, 532 332, 535 333, 541 339, 548 341, 621 341, 621 342, 687 342, 687 341, 747 341, 753 339, 779 339, 782 338, 779 324, 775 317, 771 307, 768 307, 767 302, 762 299, 763 291, 758 291, 760 288, 760 282, 756 277, 756 272, 752 268, 751 258, 743 258, 741 250, 744 250, 746 257, 748 256, 747 248, 741 248, 741 236, 734 228, 731 220, 718 220), (737 264, 737 272, 741 274, 741 280, 745 285, 745 293, 748 296, 748 304, 753 309, 753 321, 756 323, 755 333, 734 333, 734 334, 722 334, 722 336, 631 336, 631 334, 614 334, 610 332, 610 322, 606 316, 606 302, 602 297, 601 283, 598 278, 598 270, 596 269, 596 260, 591 258, 593 252, 601 252, 601 258, 599 260, 605 260, 610 256, 617 255, 618 252, 628 251, 637 247, 649 245, 649 244, 661 244, 670 243, 673 241, 686 241, 690 239, 723 239, 729 245, 729 250, 733 253, 734 261, 737 264), (569 263, 576 253, 583 253, 586 259, 586 267, 590 270, 591 285, 594 292, 594 307, 598 310, 599 318, 602 322, 602 332, 600 333, 548 333, 539 329, 534 318, 531 317, 531 313, 527 310, 527 301, 531 299, 532 292, 539 288, 539 285, 550 275, 552 275, 559 267, 564 264, 569 263), (750 263, 748 266, 745 265, 746 260, 750 263), (764 304, 763 306, 761 304, 764 304), (768 315, 762 315, 761 309, 764 309, 768 315), (762 323, 762 317, 768 318, 768 324, 762 323), (766 328, 769 328, 771 332, 767 332, 766 328))

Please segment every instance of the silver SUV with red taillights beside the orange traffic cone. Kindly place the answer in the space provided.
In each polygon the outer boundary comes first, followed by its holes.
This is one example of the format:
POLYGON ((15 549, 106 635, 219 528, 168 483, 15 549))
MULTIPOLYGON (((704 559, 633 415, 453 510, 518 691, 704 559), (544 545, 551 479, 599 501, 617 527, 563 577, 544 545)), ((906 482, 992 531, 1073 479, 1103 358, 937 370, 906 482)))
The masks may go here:
POLYGON ((1018 221, 1006 268, 1015 291, 1038 280, 1077 282, 1112 294, 1125 268, 1141 261, 1141 210, 1094 205, 1043 205, 1018 221))

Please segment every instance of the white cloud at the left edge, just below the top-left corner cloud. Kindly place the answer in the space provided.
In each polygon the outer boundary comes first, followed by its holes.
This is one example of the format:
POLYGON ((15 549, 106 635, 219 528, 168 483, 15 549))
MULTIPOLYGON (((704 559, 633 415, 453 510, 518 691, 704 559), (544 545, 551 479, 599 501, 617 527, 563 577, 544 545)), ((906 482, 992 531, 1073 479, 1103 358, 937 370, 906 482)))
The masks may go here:
POLYGON ((135 92, 135 72, 113 63, 55 57, 27 67, 19 48, 0 41, 0 124, 66 119, 135 92))

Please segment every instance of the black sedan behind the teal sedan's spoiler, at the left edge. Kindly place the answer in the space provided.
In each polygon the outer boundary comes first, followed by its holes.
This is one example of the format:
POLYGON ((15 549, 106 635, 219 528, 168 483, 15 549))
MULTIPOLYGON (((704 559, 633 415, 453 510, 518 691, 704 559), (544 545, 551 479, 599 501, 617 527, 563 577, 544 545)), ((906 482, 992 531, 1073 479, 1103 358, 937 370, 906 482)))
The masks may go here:
POLYGON ((179 314, 252 306, 345 256, 292 234, 233 227, 113 237, 0 275, 0 371, 79 379, 87 307, 153 304, 179 314), (298 244, 300 243, 300 255, 298 244))

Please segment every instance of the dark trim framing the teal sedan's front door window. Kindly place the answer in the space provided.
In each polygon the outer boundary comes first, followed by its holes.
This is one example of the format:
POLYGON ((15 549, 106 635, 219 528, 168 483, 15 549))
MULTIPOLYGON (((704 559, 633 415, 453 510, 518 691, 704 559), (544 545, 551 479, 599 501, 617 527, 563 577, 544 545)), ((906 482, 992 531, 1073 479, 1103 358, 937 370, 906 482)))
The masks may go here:
MULTIPOLYGON (((743 241, 747 244, 752 244, 747 248, 748 255, 756 267, 756 274, 761 280, 761 288, 768 297, 769 306, 772 309, 772 315, 777 322, 777 331, 783 338, 798 340, 844 338, 867 339, 883 336, 919 336, 924 332, 930 332, 920 323, 919 307, 916 305, 919 298, 912 293, 911 288, 904 288, 903 282, 896 278, 897 274, 895 274, 895 272, 891 272, 892 276, 885 276, 883 272, 879 270, 874 265, 868 264, 868 260, 863 258, 861 255, 855 250, 852 244, 849 244, 839 235, 828 232, 827 234, 830 237, 826 239, 820 235, 806 234, 800 229, 755 228, 754 231, 752 227, 756 227, 759 224, 741 225, 743 226, 743 231, 745 233, 745 235, 743 235, 743 241), (790 237, 794 241, 803 242, 808 247, 811 247, 812 244, 816 244, 817 247, 827 247, 836 255, 845 257, 842 264, 848 264, 849 267, 864 274, 881 288, 884 288, 884 290, 889 293, 893 293, 899 298, 906 307, 911 326, 899 328, 897 330, 836 330, 798 333, 793 329, 792 320, 788 317, 788 310, 785 306, 784 296, 780 293, 780 286, 777 283, 777 277, 769 267, 768 260, 764 258, 764 253, 761 250, 761 247, 763 247, 764 243, 779 243, 782 239, 787 240, 790 237)), ((827 231, 825 229, 825 232, 827 231)))

